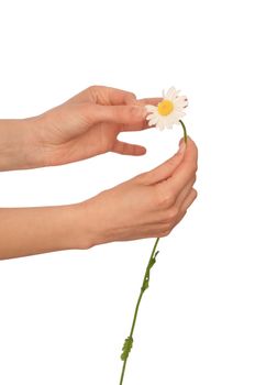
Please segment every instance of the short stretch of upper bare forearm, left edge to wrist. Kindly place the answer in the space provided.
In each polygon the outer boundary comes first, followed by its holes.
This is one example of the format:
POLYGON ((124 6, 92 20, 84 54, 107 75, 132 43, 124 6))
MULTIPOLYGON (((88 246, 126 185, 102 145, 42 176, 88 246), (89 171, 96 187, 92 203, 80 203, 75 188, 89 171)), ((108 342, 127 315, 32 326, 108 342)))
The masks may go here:
POLYGON ((37 145, 40 118, 0 120, 0 170, 44 166, 37 145))

